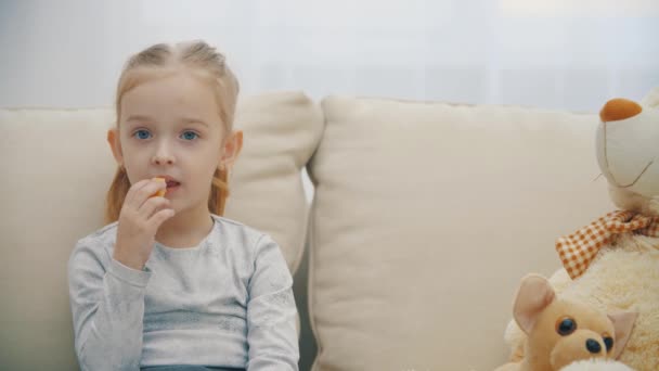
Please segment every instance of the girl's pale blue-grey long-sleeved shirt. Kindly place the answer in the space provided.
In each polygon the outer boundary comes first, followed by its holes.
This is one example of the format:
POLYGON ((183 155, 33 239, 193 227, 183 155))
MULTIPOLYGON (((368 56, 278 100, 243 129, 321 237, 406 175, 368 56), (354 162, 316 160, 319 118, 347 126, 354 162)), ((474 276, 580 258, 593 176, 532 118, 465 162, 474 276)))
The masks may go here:
POLYGON ((195 247, 156 243, 143 271, 113 259, 116 222, 78 241, 68 286, 82 370, 298 370, 293 279, 277 244, 212 219, 195 247))

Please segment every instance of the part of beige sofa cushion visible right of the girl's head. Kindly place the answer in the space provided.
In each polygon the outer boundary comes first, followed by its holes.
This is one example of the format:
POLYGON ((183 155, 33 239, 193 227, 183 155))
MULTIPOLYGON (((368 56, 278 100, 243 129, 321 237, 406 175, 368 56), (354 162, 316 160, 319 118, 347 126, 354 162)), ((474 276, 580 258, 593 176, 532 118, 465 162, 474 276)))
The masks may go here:
POLYGON ((305 251, 309 214, 300 171, 323 127, 320 105, 298 92, 246 99, 236 113, 244 143, 229 179, 224 214, 271 233, 292 271, 305 251))

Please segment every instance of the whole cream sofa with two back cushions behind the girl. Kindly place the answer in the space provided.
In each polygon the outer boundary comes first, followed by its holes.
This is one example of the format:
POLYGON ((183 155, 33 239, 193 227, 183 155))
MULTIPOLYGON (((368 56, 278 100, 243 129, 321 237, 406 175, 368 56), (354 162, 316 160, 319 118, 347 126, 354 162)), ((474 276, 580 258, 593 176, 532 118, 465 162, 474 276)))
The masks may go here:
MULTIPOLYGON (((76 368, 66 263, 103 223, 113 115, 0 111, 2 370, 76 368)), ((271 233, 290 270, 308 270, 296 295, 313 334, 302 330, 302 349, 319 350, 302 351, 313 370, 492 370, 508 356, 519 279, 552 273, 554 240, 613 208, 595 180, 597 121, 521 106, 245 97, 227 216, 271 233)))

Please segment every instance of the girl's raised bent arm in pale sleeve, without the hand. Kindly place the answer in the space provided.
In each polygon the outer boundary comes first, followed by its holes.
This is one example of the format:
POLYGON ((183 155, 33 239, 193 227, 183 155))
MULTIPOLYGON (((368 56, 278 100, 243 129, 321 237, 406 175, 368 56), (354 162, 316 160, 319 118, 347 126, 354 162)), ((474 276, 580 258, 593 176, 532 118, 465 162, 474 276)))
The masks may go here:
POLYGON ((81 370, 139 370, 148 271, 128 268, 78 242, 68 261, 76 355, 81 370), (103 264, 103 263, 104 264, 103 264))

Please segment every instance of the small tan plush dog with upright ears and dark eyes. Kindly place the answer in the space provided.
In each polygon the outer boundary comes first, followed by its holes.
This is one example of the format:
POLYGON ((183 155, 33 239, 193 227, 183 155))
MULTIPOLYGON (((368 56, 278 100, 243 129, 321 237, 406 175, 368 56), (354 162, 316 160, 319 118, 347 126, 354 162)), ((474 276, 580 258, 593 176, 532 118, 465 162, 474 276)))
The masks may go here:
POLYGON ((554 371, 582 359, 616 359, 632 332, 636 314, 605 315, 579 302, 557 298, 538 274, 521 280, 513 306, 527 334, 525 357, 496 371, 554 371))

